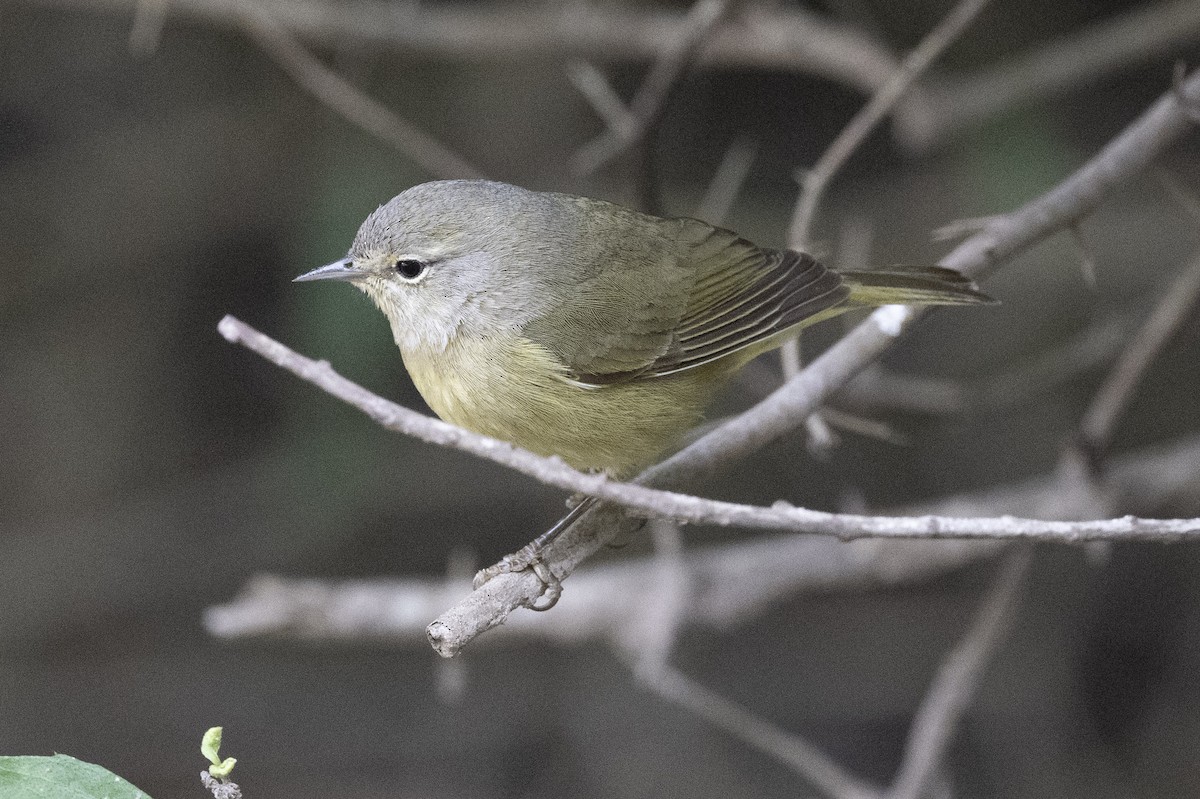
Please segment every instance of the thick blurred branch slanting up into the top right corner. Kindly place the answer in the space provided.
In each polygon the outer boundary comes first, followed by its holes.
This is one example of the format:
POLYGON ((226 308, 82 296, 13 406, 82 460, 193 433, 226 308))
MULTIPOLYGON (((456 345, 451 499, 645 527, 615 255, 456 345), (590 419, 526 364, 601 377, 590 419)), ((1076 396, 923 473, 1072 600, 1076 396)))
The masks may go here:
POLYGON ((1196 40, 1200 4, 1194 0, 1139 7, 977 76, 924 84, 924 102, 896 118, 895 134, 901 145, 923 152, 1010 108, 1162 59, 1196 40))

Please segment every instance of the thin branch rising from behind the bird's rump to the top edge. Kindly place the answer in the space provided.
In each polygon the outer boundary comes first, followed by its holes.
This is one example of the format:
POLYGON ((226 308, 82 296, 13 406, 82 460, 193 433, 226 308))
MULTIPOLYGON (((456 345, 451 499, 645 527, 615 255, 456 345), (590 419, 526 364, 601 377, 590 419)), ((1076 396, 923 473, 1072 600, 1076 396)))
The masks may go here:
POLYGON ((904 92, 949 47, 967 25, 983 11, 989 0, 960 0, 946 18, 922 40, 896 70, 896 73, 880 88, 865 106, 841 130, 833 144, 821 155, 816 166, 804 173, 800 180, 800 198, 792 214, 792 226, 787 232, 788 247, 808 250, 812 230, 812 217, 824 196, 826 186, 846 163, 846 160, 866 139, 875 126, 887 116, 904 96, 904 92))

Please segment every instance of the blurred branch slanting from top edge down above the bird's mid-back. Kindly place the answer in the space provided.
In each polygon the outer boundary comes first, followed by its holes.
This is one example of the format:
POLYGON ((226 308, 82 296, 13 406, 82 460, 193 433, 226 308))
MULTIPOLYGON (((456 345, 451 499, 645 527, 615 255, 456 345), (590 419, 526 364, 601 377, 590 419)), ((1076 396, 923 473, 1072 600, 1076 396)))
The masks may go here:
POLYGON ((649 74, 629 103, 634 125, 608 126, 575 154, 574 169, 588 175, 642 140, 662 119, 667 98, 703 49, 731 0, 696 0, 673 38, 666 40, 649 74))

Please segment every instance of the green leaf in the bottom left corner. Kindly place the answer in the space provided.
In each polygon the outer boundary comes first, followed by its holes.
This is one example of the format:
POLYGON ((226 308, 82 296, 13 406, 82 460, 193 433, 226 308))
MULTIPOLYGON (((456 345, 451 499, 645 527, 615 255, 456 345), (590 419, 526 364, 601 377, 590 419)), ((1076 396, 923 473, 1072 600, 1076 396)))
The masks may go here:
POLYGON ((150 799, 108 769, 67 755, 0 757, 4 799, 150 799))

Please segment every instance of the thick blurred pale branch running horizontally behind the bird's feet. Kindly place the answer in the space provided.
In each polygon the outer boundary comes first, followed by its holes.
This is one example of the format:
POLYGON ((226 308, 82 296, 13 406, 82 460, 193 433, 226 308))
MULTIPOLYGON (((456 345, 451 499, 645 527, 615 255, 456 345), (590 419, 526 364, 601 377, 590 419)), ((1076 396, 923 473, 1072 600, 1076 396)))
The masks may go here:
MULTIPOLYGON (((1164 506, 1200 509, 1200 437, 1121 455, 1109 462, 1104 491, 1122 511, 1153 513, 1164 506), (1184 495, 1186 492, 1192 492, 1184 495)), ((1069 475, 1051 473, 901 509, 905 513, 1068 512, 1062 497, 1069 475)), ((689 584, 683 624, 726 629, 746 624, 786 597, 804 593, 850 591, 911 583, 989 557, 1007 545, 995 541, 884 541, 841 543, 808 535, 779 535, 703 547, 683 554, 689 584), (754 575, 746 581, 745 575, 754 575)), ((648 631, 641 620, 655 601, 661 566, 655 558, 581 569, 554 613, 509 618, 502 639, 512 636, 557 643, 606 639, 614 631, 648 631)), ((469 577, 318 581, 258 577, 227 605, 205 613, 209 632, 240 638, 282 636, 317 641, 424 642, 432 615, 462 596, 469 577)), ((653 631, 650 631, 653 633, 653 631)))

